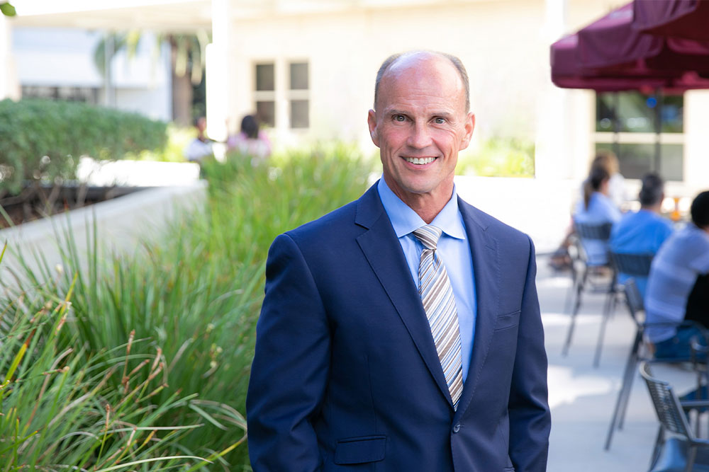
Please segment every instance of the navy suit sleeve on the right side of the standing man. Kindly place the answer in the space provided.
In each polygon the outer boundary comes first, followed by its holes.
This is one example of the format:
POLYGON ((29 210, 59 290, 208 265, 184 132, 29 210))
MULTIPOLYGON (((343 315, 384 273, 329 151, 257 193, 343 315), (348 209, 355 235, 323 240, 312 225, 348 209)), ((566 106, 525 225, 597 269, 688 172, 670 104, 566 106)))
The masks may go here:
POLYGON ((517 354, 508 411, 510 459, 516 472, 547 470, 551 415, 547 401, 547 354, 537 298, 537 265, 531 239, 520 313, 517 354))

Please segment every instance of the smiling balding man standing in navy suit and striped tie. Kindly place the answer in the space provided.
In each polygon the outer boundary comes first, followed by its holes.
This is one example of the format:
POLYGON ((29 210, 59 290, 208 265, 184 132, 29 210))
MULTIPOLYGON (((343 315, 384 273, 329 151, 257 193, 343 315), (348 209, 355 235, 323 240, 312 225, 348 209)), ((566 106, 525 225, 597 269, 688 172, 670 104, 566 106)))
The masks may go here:
POLYGON ((384 178, 269 251, 253 470, 544 471, 532 242, 453 185, 474 128, 464 67, 390 57, 367 122, 384 178))

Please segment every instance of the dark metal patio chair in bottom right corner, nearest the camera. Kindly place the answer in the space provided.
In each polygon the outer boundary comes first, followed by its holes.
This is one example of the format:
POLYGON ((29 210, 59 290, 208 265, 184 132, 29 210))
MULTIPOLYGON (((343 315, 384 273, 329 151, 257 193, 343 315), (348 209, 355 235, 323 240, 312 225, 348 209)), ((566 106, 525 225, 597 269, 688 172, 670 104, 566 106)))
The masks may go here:
POLYGON ((688 420, 690 410, 706 408, 709 401, 680 402, 669 383, 652 376, 647 362, 640 364, 640 375, 660 422, 649 471, 709 472, 709 440, 696 437, 688 420))

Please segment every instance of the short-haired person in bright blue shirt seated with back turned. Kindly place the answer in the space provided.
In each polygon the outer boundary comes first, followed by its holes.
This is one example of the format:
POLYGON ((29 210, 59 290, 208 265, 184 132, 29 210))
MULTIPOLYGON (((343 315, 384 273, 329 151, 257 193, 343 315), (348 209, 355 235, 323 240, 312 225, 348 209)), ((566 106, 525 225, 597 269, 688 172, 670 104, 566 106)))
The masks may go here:
MULTIPOLYGON (((640 210, 627 213, 613 225, 610 233, 610 250, 624 254, 657 254, 660 246, 672 233, 672 223, 660 216, 664 200, 664 182, 657 173, 651 172, 642 178, 640 189, 640 210)), ((629 275, 621 272, 618 282, 625 283, 629 275)), ((633 277, 637 289, 645 297, 647 277, 633 277)))

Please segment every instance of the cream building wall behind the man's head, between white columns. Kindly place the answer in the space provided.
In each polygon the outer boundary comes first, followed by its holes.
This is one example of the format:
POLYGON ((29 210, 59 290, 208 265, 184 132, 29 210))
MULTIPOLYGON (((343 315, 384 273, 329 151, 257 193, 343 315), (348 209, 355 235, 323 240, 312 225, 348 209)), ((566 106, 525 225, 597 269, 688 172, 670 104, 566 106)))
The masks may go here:
MULTIPOLYGON (((504 0, 237 21, 230 54, 237 91, 230 103, 233 120, 253 111, 255 62, 275 59, 277 83, 285 85, 287 62, 307 59, 311 129, 306 136, 372 146, 366 117, 379 64, 389 54, 424 48, 456 54, 466 65, 478 138, 534 139, 535 91, 547 80, 542 15, 541 0, 504 0)), ((283 95, 277 100, 277 116, 285 120, 277 124, 276 139, 290 140, 297 133, 287 129, 287 101, 283 95)))

